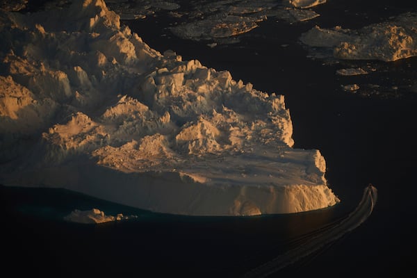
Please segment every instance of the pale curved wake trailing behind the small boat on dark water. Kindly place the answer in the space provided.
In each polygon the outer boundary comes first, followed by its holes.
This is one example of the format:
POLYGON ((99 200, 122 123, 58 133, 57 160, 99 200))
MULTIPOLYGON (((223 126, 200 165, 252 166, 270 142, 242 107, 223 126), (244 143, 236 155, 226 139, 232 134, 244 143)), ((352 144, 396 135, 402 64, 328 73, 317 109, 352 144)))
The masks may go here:
POLYGON ((335 240, 338 240, 348 232, 359 227, 361 223, 365 222, 372 213, 376 202, 377 188, 372 184, 369 184, 369 186, 366 186, 363 190, 361 202, 359 202, 354 211, 347 215, 346 218, 307 235, 306 237, 309 239, 306 240, 306 243, 300 244, 275 257, 271 261, 263 263, 249 272, 246 272, 243 277, 268 277, 268 275, 272 275, 272 273, 286 268, 286 266, 299 261, 305 256, 313 254, 313 252, 320 250, 329 243, 333 243, 335 240))

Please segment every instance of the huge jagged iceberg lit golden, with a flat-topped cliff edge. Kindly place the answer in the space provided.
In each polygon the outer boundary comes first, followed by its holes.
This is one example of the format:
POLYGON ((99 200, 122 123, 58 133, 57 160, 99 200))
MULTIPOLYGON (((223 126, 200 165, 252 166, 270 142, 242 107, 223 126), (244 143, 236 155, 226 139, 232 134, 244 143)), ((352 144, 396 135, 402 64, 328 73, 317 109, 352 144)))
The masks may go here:
POLYGON ((339 202, 284 97, 150 48, 102 0, 0 11, 0 182, 162 213, 296 213, 339 202))

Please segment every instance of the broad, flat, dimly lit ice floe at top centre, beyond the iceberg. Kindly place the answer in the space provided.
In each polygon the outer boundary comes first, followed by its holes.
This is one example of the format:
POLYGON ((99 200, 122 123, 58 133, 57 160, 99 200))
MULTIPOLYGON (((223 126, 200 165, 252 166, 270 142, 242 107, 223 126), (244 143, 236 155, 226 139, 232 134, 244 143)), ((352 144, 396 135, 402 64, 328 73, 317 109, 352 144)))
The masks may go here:
POLYGON ((270 0, 213 3, 197 1, 194 3, 195 10, 187 13, 190 20, 170 27, 170 31, 185 40, 213 40, 220 44, 230 44, 238 42, 238 35, 252 31, 259 26, 259 22, 268 17, 294 23, 319 16, 313 10, 300 9, 315 6, 319 1, 304 1, 309 2, 308 6, 306 3, 293 2, 284 6, 270 0))

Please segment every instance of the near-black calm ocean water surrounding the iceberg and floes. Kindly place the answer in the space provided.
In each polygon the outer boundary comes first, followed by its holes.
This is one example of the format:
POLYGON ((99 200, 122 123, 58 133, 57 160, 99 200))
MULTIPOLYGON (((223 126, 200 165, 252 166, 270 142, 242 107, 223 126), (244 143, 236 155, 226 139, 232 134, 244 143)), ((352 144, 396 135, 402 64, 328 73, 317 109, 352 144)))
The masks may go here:
POLYGON ((320 17, 300 24, 268 20, 240 43, 214 48, 174 38, 166 29, 174 19, 163 13, 124 23, 158 51, 173 49, 183 60, 196 58, 258 90, 284 95, 294 147, 320 150, 340 205, 293 215, 195 218, 149 213, 66 190, 1 187, 4 269, 16 277, 240 277, 337 223, 372 183, 378 201, 366 222, 271 277, 402 277, 414 271, 417 97, 401 88, 417 83, 417 59, 326 63, 307 58, 297 38, 316 24, 360 28, 417 11, 417 4, 342 0, 313 10, 320 17), (356 77, 335 74, 366 63, 380 70, 356 77), (341 90, 345 83, 382 86, 349 93, 341 90), (63 221, 76 208, 93 207, 139 218, 99 225, 63 221))

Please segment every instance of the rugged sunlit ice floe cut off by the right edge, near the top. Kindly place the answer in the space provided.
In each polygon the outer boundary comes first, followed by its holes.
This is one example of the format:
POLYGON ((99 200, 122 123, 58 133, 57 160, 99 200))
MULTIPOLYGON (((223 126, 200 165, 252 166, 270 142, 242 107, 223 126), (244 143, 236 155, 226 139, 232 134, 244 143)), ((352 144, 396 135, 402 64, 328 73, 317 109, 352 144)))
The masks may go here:
POLYGON ((394 61, 417 55, 417 14, 404 13, 388 22, 371 24, 359 30, 315 26, 303 33, 300 41, 313 55, 320 48, 337 59, 394 61))

